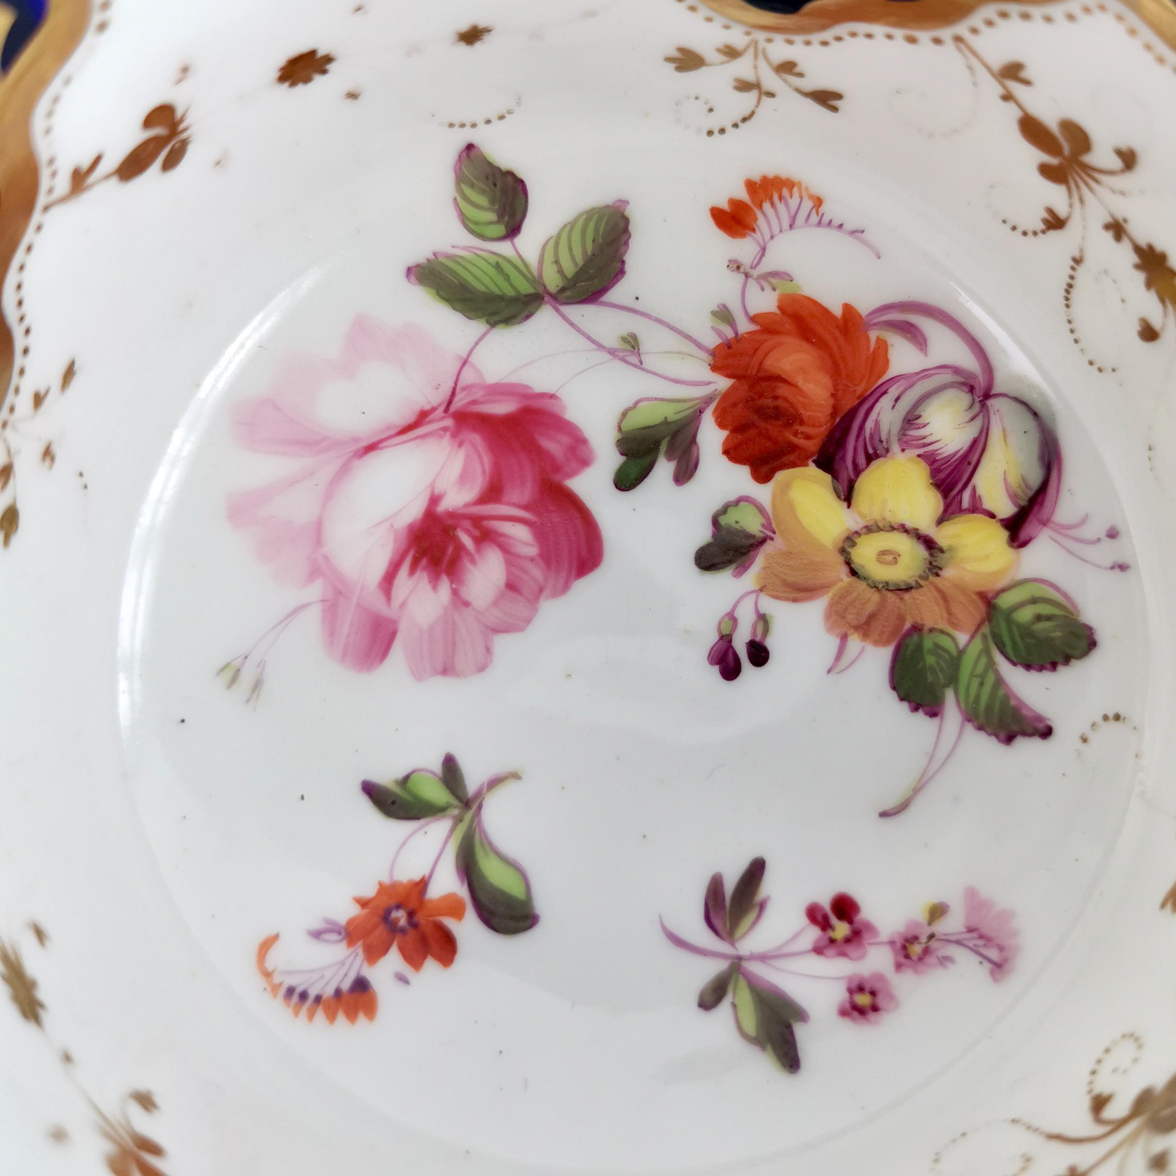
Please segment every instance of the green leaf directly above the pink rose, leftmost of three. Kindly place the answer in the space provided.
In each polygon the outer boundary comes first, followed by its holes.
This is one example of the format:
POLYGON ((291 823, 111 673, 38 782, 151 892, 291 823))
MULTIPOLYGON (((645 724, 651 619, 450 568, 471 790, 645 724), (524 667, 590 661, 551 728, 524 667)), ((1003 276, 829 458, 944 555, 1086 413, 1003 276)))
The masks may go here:
POLYGON ((409 266, 408 280, 489 327, 526 322, 543 305, 543 292, 530 268, 499 253, 435 253, 409 266))

